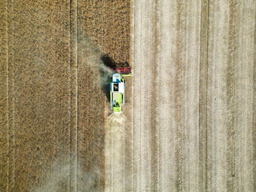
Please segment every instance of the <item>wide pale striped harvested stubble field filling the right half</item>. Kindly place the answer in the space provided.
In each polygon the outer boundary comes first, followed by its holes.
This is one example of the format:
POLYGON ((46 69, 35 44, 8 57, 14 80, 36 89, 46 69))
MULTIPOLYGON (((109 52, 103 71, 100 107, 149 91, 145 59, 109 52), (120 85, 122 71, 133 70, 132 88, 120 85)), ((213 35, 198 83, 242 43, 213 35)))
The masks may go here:
POLYGON ((134 191, 254 191, 253 1, 135 1, 134 191))

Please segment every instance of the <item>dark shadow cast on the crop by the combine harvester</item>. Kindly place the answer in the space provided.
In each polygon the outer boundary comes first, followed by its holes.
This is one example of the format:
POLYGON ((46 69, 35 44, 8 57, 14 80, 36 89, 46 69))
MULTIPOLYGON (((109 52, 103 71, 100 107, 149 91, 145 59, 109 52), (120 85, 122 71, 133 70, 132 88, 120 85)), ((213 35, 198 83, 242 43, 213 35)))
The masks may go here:
POLYGON ((130 65, 127 61, 125 62, 116 62, 113 58, 109 55, 105 54, 101 57, 103 62, 103 67, 100 68, 101 74, 101 90, 104 92, 106 98, 110 101, 110 83, 111 82, 111 75, 115 73, 112 68, 118 67, 127 67, 130 68, 130 65))

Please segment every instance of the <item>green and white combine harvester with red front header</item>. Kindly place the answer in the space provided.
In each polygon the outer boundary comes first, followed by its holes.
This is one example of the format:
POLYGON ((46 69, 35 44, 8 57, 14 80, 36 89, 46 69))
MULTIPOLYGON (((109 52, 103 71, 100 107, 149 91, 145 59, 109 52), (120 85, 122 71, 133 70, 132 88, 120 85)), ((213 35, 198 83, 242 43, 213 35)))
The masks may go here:
POLYGON ((122 105, 125 103, 124 90, 125 79, 124 77, 132 76, 131 68, 112 68, 114 73, 111 75, 110 82, 110 109, 114 113, 122 113, 122 105))

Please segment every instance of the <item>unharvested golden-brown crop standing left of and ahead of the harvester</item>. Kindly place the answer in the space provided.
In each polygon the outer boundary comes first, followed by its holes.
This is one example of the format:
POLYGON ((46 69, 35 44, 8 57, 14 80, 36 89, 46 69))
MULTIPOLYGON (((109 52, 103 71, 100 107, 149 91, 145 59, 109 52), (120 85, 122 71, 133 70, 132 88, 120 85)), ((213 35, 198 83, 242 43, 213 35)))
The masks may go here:
POLYGON ((94 2, 0 3, 1 191, 104 188, 101 58, 129 62, 130 1, 94 2))

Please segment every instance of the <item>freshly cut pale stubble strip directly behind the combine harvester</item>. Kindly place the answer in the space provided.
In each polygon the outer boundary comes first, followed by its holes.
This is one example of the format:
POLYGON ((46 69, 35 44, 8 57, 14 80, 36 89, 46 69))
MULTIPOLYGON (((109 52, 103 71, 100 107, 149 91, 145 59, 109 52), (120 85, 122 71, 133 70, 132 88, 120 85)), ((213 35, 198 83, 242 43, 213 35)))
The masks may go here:
POLYGON ((106 191, 125 190, 125 127, 123 113, 108 117, 105 137, 106 191))

